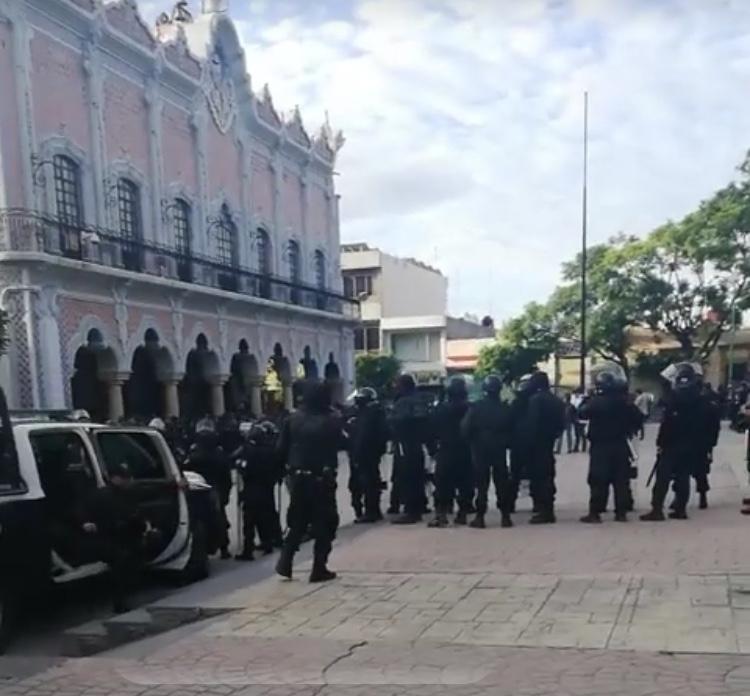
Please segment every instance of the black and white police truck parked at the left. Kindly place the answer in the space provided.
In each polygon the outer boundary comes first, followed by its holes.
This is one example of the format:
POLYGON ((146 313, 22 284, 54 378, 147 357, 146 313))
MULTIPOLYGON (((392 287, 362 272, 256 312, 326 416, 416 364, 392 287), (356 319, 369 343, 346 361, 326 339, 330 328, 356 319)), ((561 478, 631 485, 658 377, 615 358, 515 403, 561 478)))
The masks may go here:
POLYGON ((208 575, 218 535, 210 486, 183 473, 155 430, 8 413, 0 390, 0 652, 19 608, 55 585, 108 571, 87 555, 86 502, 129 473, 150 530, 142 560, 184 582, 208 575), (119 474, 117 474, 119 475, 119 474))

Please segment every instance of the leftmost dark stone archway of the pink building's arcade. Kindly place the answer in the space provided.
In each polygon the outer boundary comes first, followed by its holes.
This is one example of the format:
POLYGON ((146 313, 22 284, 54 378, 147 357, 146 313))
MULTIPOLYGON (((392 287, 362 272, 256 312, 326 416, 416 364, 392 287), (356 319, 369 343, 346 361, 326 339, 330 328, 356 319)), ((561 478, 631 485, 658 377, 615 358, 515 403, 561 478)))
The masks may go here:
POLYGON ((101 331, 89 330, 86 343, 78 348, 73 360, 73 377, 70 380, 73 408, 88 411, 94 421, 122 418, 117 367, 117 356, 104 343, 101 331), (113 393, 115 389, 116 394, 113 393))

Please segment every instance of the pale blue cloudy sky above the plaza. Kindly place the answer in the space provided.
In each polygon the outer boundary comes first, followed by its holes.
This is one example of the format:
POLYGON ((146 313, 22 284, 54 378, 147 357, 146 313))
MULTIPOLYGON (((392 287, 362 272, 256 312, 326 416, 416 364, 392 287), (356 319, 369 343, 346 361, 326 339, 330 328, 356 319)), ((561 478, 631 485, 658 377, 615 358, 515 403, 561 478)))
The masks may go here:
POLYGON ((593 242, 680 217, 750 148, 747 0, 230 8, 254 89, 345 132, 342 238, 440 267, 453 312, 507 318, 577 251, 584 90, 593 242))

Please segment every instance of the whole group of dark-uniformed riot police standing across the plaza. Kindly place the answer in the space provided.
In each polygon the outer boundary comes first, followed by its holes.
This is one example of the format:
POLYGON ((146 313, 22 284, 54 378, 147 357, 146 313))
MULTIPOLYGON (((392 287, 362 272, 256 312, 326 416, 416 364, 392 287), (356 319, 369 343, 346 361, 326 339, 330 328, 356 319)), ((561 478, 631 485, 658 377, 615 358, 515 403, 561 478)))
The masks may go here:
MULTIPOLYGON (((641 516, 646 521, 665 519, 670 485, 674 500, 669 517, 686 519, 691 477, 705 507, 711 454, 719 434, 719 411, 703 391, 700 368, 680 363, 665 377, 658 456, 649 477, 649 482, 654 479, 652 509, 641 516)), ((310 581, 322 582, 335 577, 327 561, 339 524, 336 480, 342 450, 349 455, 349 491, 358 524, 384 518, 381 461, 389 448, 393 467, 387 512, 394 524, 422 521, 429 512, 431 483, 430 527, 447 527, 453 516, 455 525, 483 529, 492 481, 501 526, 512 527, 519 489, 526 480, 533 501, 531 524, 556 521, 554 451, 564 428, 564 405, 552 393, 544 372, 522 378, 510 402, 503 398, 503 386, 499 376, 490 375, 483 382, 483 397, 470 403, 466 382, 453 378, 444 400, 433 407, 405 374, 397 379, 388 409, 373 389, 365 387, 356 392, 349 410, 332 404, 325 382, 311 381, 303 386, 299 408, 278 426, 230 416, 217 427, 205 419, 197 424, 194 441, 185 446, 163 423, 155 425, 184 462, 183 468, 201 474, 213 487, 224 515, 222 557, 229 557, 225 510, 234 467, 242 482, 244 522, 244 548, 237 558, 252 560, 257 536, 263 553, 281 549, 276 570, 291 578, 295 553, 303 540, 312 538, 310 581), (290 499, 285 535, 275 496, 279 485, 287 486, 290 499)), ((633 510, 631 479, 637 476, 630 443, 642 427, 643 415, 616 366, 600 369, 594 387, 579 409, 581 419, 588 422, 590 442, 590 502, 581 521, 602 521, 611 490, 614 519, 625 522, 633 510)))

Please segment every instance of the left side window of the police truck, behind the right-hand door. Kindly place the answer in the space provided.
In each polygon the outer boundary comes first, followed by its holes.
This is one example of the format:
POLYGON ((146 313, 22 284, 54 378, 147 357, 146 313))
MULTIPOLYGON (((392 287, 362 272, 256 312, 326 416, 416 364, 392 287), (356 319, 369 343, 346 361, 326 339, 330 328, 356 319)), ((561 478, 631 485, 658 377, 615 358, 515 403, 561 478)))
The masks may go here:
POLYGON ((94 465, 78 433, 39 432, 29 440, 45 495, 62 499, 96 487, 94 465))

